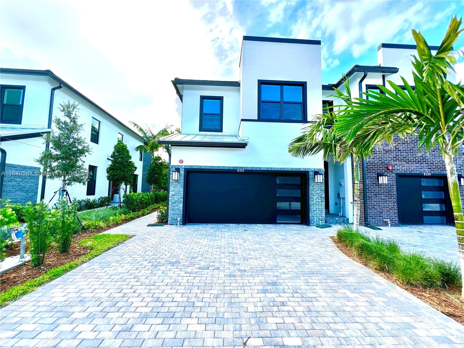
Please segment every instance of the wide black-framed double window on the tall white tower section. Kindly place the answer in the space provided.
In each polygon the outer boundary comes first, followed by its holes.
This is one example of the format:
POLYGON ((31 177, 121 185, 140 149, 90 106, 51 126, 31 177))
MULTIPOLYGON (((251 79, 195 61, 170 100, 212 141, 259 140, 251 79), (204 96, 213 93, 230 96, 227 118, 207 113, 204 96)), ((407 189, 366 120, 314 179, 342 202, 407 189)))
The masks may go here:
POLYGON ((258 80, 258 119, 306 120, 306 83, 258 80))

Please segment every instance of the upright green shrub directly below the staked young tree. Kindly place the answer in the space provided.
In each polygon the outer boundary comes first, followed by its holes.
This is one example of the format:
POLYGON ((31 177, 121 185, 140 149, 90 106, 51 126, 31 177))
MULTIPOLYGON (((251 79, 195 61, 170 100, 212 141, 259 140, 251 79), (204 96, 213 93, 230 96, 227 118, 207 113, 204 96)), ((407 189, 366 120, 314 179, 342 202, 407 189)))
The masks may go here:
POLYGON ((54 211, 54 238, 60 253, 69 251, 72 235, 80 228, 77 222, 77 209, 66 198, 58 201, 58 210, 54 211))

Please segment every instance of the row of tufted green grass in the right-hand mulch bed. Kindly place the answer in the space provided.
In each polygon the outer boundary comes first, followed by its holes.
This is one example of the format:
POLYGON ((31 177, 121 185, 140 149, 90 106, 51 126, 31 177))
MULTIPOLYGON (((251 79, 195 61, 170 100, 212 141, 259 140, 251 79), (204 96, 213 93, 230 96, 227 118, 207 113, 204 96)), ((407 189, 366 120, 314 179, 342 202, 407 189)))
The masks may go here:
POLYGON ((390 272, 405 285, 419 288, 462 286, 460 267, 454 262, 428 258, 420 252, 403 252, 392 239, 371 238, 354 232, 349 226, 339 229, 336 239, 377 271, 390 272))

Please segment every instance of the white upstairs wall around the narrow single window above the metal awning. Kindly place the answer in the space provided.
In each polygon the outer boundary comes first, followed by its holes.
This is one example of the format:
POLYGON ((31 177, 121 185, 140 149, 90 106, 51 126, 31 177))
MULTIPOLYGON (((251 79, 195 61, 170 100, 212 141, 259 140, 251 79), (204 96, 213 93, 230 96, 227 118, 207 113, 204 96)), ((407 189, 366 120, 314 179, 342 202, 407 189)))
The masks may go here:
POLYGON ((223 133, 238 134, 240 126, 239 87, 184 85, 182 103, 182 133, 200 132, 200 96, 224 97, 223 133), (184 105, 186 107, 184 107, 184 105))

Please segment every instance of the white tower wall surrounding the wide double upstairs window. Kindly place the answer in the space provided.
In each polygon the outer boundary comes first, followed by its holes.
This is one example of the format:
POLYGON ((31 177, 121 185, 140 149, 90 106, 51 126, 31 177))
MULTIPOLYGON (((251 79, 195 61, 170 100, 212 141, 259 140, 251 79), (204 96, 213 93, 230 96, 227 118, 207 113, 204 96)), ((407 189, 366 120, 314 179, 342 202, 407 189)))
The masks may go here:
POLYGON ((258 119, 258 80, 306 82, 308 117, 322 113, 321 69, 321 45, 244 40, 241 118, 258 119))

